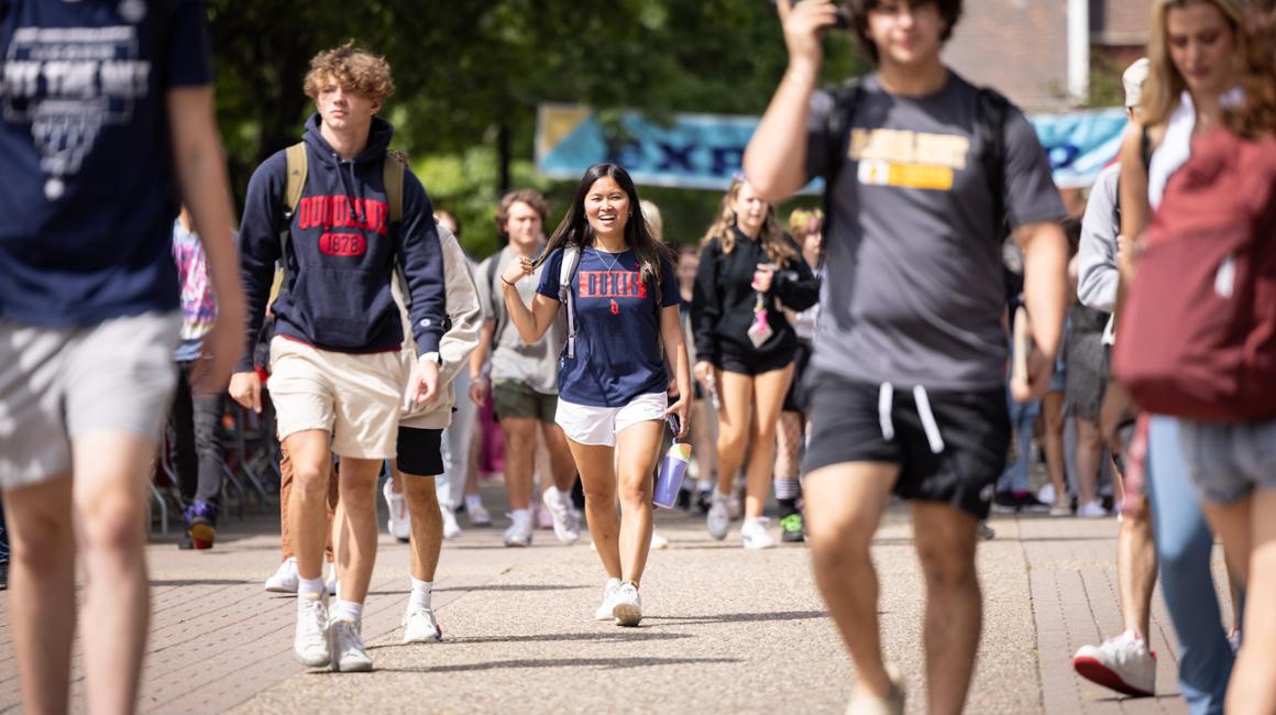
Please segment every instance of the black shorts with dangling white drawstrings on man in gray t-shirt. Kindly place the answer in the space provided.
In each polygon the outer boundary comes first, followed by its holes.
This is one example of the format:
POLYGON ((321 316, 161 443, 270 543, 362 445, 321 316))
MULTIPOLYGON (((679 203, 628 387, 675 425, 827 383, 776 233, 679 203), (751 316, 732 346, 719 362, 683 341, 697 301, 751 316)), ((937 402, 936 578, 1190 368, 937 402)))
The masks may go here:
POLYGON ((812 370, 803 389, 812 429, 804 474, 846 462, 891 462, 900 465, 894 485, 900 497, 943 502, 975 518, 988 517, 1011 442, 1005 388, 925 391, 935 444, 926 435, 912 388, 893 388, 889 425, 879 412, 880 386, 812 370), (888 426, 889 438, 883 434, 888 426))

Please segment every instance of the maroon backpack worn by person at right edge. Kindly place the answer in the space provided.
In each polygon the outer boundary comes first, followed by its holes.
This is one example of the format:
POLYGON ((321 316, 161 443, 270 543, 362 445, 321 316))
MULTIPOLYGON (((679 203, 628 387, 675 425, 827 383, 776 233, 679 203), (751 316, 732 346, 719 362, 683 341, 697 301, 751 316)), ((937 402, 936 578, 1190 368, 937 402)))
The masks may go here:
POLYGON ((1197 139, 1147 227, 1113 363, 1139 407, 1276 416, 1276 140, 1197 139))

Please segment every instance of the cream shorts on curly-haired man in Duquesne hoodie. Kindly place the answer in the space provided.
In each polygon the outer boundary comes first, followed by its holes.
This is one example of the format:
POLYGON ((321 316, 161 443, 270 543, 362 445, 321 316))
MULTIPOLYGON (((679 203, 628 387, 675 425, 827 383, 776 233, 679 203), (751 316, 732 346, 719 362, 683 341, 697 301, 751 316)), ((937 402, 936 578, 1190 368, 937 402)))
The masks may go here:
POLYGON ((407 378, 398 351, 332 352, 276 336, 271 379, 279 440, 319 429, 332 451, 359 460, 394 458, 407 378))

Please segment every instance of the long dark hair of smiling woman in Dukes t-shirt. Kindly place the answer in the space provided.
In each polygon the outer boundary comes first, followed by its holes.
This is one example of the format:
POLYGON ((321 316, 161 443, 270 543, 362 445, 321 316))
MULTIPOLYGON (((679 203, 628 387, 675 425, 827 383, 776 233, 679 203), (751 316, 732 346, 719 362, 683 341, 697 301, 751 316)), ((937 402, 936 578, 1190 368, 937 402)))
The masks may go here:
POLYGON ((540 267, 545 263, 550 254, 554 253, 554 249, 575 245, 581 250, 584 250, 586 246, 595 244, 593 227, 590 226, 590 218, 584 214, 584 197, 590 195, 593 183, 604 176, 619 184, 620 190, 629 197, 629 218, 625 221, 625 245, 629 246, 629 250, 634 252, 634 258, 638 259, 638 267, 642 271, 642 282, 647 286, 653 286, 657 291, 656 295, 658 295, 660 287, 669 277, 665 276, 665 266, 672 263, 674 252, 664 241, 658 241, 651 235, 647 220, 642 214, 638 189, 634 188, 634 181, 629 177, 629 172, 615 163, 596 163, 584 170, 584 176, 581 177, 581 185, 575 188, 575 198, 572 199, 572 206, 568 207, 567 216, 563 217, 563 222, 554 230, 554 235, 550 236, 550 243, 545 246, 545 253, 536 260, 536 266, 540 267))

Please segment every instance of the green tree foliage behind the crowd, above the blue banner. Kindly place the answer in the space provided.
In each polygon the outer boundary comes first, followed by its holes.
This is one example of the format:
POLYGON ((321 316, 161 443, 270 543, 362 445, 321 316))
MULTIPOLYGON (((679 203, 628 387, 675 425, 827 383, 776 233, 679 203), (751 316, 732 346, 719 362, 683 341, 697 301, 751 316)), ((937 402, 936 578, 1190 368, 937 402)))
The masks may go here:
MULTIPOLYGON (((237 193, 265 157, 296 142, 311 111, 309 59, 355 38, 385 55, 396 96, 387 116, 431 198, 457 213, 466 246, 498 245, 494 204, 507 185, 545 190, 558 216, 573 185, 551 184, 531 160, 536 107, 572 102, 604 120, 637 109, 758 115, 787 56, 764 0, 209 0, 218 119, 237 193)), ((845 33, 826 41, 826 79, 852 74, 845 33)), ((693 241, 712 192, 646 190, 670 240, 693 241)))

